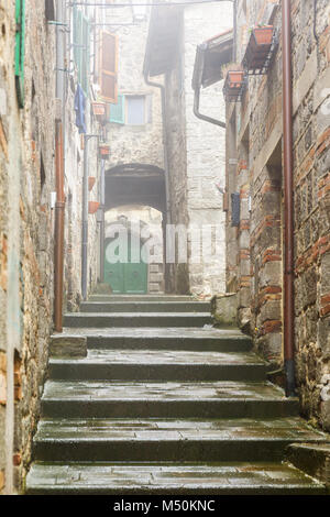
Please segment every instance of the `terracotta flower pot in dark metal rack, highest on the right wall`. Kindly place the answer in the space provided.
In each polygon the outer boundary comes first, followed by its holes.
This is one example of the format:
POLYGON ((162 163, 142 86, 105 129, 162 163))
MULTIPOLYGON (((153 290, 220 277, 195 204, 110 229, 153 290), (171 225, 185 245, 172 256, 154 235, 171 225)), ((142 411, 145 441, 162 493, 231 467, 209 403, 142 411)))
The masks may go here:
POLYGON ((243 67, 252 75, 265 73, 272 54, 274 41, 273 25, 256 26, 251 36, 243 57, 243 67))

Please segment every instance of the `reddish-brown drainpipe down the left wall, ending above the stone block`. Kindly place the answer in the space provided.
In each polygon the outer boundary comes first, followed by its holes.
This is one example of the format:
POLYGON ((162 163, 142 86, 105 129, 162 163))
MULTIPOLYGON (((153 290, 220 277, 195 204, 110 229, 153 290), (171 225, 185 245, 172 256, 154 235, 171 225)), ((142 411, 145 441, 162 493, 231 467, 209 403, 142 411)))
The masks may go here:
MULTIPOLYGON (((57 2, 57 21, 64 21, 63 0, 57 2)), ((64 272, 64 68, 65 68, 64 28, 56 29, 56 97, 63 106, 62 121, 56 122, 55 142, 55 175, 56 175, 56 205, 55 205, 55 246, 54 246, 54 324, 57 332, 63 330, 63 272, 64 272)))

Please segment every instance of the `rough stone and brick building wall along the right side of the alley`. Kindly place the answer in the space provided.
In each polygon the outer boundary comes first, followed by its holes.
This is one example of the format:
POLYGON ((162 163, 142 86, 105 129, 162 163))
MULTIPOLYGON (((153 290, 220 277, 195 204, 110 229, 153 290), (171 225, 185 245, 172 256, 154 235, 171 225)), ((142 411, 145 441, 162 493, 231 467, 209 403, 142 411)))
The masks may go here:
MULTIPOLYGON (((282 2, 238 1, 237 65, 249 28, 273 25, 278 46, 267 73, 250 76, 227 106, 227 191, 240 195, 239 226, 227 216, 227 289, 255 348, 283 364, 282 2)), ((292 1, 295 366, 302 413, 330 429, 329 388, 329 2, 292 1)))

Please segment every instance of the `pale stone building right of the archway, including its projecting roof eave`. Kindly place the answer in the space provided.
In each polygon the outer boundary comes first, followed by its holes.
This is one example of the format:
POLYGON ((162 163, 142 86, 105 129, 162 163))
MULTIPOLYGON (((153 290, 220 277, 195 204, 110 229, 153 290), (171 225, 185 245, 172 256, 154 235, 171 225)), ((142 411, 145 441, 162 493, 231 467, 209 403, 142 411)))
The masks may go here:
MULTIPOLYGON (((226 290, 226 221, 217 188, 224 187, 226 133, 195 117, 191 80, 196 46, 231 26, 231 2, 154 8, 144 65, 152 79, 165 86, 170 222, 200 230, 188 232, 188 262, 176 257, 172 289, 201 297, 226 290), (194 250, 200 251, 201 229, 207 226, 213 227, 210 243, 197 260, 194 250)), ((219 84, 202 91, 200 110, 224 120, 220 92, 219 84)))

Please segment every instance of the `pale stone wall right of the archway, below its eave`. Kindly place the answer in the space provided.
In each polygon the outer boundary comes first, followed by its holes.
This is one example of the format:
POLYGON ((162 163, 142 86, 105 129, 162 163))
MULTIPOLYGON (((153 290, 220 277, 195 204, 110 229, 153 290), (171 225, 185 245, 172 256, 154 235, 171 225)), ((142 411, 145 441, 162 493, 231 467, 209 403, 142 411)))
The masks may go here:
MULTIPOLYGON (((226 290, 224 215, 216 187, 216 184, 224 187, 226 132, 195 117, 191 79, 197 45, 232 26, 232 4, 189 7, 178 11, 178 15, 182 16, 178 54, 166 78, 173 223, 199 229, 209 224, 218 227, 219 232, 213 233, 199 263, 190 258, 188 266, 177 265, 174 283, 179 293, 210 296, 226 290)), ((224 120, 222 84, 201 91, 200 111, 224 120)), ((188 255, 193 245, 194 237, 188 255)))

